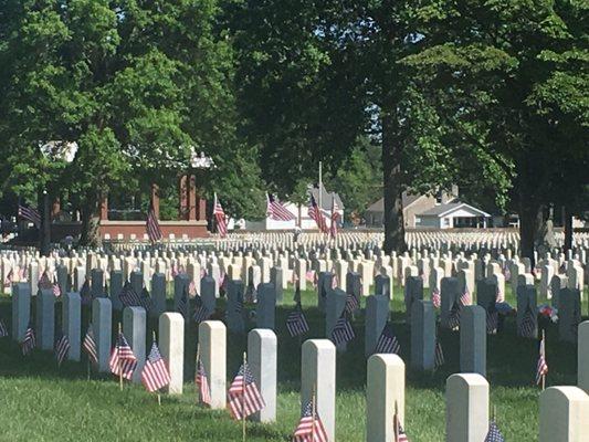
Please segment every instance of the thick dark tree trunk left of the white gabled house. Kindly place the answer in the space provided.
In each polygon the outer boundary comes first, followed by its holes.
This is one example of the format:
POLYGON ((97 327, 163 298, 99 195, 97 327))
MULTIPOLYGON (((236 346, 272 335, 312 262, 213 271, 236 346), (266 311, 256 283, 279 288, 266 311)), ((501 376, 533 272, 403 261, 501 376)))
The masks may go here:
POLYGON ((382 109, 382 175, 385 193, 385 243, 386 253, 407 250, 402 207, 402 146, 397 137, 395 106, 382 109))

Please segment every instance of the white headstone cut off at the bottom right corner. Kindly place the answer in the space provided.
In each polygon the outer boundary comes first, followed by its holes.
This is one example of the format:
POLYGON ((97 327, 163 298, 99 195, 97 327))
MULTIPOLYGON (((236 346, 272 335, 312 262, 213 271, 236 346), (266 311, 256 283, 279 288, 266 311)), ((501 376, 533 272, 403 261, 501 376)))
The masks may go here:
POLYGON ((589 396, 577 387, 549 387, 540 394, 539 442, 587 442, 589 396))

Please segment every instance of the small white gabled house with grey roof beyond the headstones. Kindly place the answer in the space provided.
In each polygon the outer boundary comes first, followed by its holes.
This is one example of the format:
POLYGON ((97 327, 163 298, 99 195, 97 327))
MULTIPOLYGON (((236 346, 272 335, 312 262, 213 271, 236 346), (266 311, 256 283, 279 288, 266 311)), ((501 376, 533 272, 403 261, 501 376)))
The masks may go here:
POLYGON ((464 202, 435 206, 416 215, 417 229, 486 228, 491 214, 464 202))

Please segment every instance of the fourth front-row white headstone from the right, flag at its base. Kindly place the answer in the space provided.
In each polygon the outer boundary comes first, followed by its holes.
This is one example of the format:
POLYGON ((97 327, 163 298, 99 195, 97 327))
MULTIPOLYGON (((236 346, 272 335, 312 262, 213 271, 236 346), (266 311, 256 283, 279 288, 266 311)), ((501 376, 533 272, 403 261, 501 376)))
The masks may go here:
POLYGON ((335 441, 336 348, 328 339, 308 339, 301 359, 301 407, 311 401, 315 390, 316 410, 327 440, 335 441))

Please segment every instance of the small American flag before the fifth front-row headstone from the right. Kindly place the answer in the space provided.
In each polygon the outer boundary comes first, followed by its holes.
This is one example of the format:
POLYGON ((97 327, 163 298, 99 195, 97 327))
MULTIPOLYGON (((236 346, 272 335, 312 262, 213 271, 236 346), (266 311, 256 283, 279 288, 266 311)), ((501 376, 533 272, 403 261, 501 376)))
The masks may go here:
POLYGON ((243 362, 228 391, 229 411, 233 419, 244 419, 266 404, 260 393, 248 364, 243 362))

